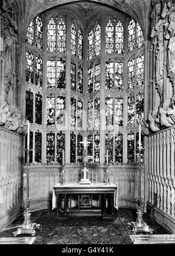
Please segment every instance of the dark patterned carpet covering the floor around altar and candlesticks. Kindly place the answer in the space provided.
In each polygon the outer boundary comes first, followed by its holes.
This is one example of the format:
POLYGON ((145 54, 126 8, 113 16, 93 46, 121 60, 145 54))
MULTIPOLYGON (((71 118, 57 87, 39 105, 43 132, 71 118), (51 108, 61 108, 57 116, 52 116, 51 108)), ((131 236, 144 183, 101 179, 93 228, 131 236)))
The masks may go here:
MULTIPOLYGON (((114 220, 101 220, 97 217, 58 220, 55 219, 55 211, 51 210, 37 211, 31 216, 32 222, 41 225, 40 229, 36 230, 35 244, 132 244, 129 238, 132 231, 127 223, 136 220, 135 210, 128 209, 119 209, 114 220)), ((149 216, 143 214, 143 218, 153 228, 153 234, 167 234, 167 231, 149 216)), ((12 237, 12 232, 16 230, 13 227, 22 222, 23 216, 20 216, 9 226, 10 230, 1 233, 1 237, 12 237)))

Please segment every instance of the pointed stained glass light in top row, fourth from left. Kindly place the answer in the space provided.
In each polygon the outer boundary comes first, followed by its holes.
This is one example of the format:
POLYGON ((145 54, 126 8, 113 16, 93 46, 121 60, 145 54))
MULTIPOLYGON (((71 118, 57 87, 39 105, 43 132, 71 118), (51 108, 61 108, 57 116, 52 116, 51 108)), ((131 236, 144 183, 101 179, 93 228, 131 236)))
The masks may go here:
POLYGON ((64 53, 66 50, 66 25, 63 18, 57 25, 57 52, 64 53))

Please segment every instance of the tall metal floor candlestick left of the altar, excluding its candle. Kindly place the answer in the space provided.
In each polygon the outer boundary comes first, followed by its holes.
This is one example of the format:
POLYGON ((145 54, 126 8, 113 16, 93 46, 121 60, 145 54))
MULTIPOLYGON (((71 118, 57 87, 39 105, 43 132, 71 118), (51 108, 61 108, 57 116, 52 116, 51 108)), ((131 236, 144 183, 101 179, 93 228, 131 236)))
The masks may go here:
POLYGON ((24 215, 24 222, 19 228, 17 228, 17 231, 13 232, 13 236, 16 237, 17 235, 20 234, 31 234, 32 236, 35 235, 36 228, 40 227, 40 224, 36 223, 31 223, 30 217, 31 213, 29 211, 29 151, 32 149, 29 149, 27 146, 26 152, 27 152, 27 207, 26 207, 26 212, 23 214, 24 215))

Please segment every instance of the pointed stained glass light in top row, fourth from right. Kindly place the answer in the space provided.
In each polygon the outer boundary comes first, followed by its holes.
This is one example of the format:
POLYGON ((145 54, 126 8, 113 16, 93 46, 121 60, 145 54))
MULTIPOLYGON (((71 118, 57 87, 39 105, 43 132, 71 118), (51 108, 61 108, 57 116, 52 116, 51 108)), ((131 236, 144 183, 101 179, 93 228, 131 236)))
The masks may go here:
POLYGON ((114 25, 111 19, 106 25, 106 53, 114 53, 114 25))

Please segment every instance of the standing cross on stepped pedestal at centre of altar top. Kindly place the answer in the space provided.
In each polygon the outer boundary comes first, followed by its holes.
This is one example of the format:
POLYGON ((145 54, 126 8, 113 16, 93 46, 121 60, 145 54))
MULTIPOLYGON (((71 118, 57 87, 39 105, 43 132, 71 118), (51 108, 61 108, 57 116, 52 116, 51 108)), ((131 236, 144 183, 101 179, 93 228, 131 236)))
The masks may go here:
POLYGON ((79 182, 79 184, 90 184, 90 180, 89 180, 89 170, 86 167, 86 146, 88 144, 90 144, 89 141, 86 141, 86 137, 84 138, 84 141, 80 142, 81 144, 84 145, 83 147, 83 168, 82 168, 82 178, 81 181, 79 182))

